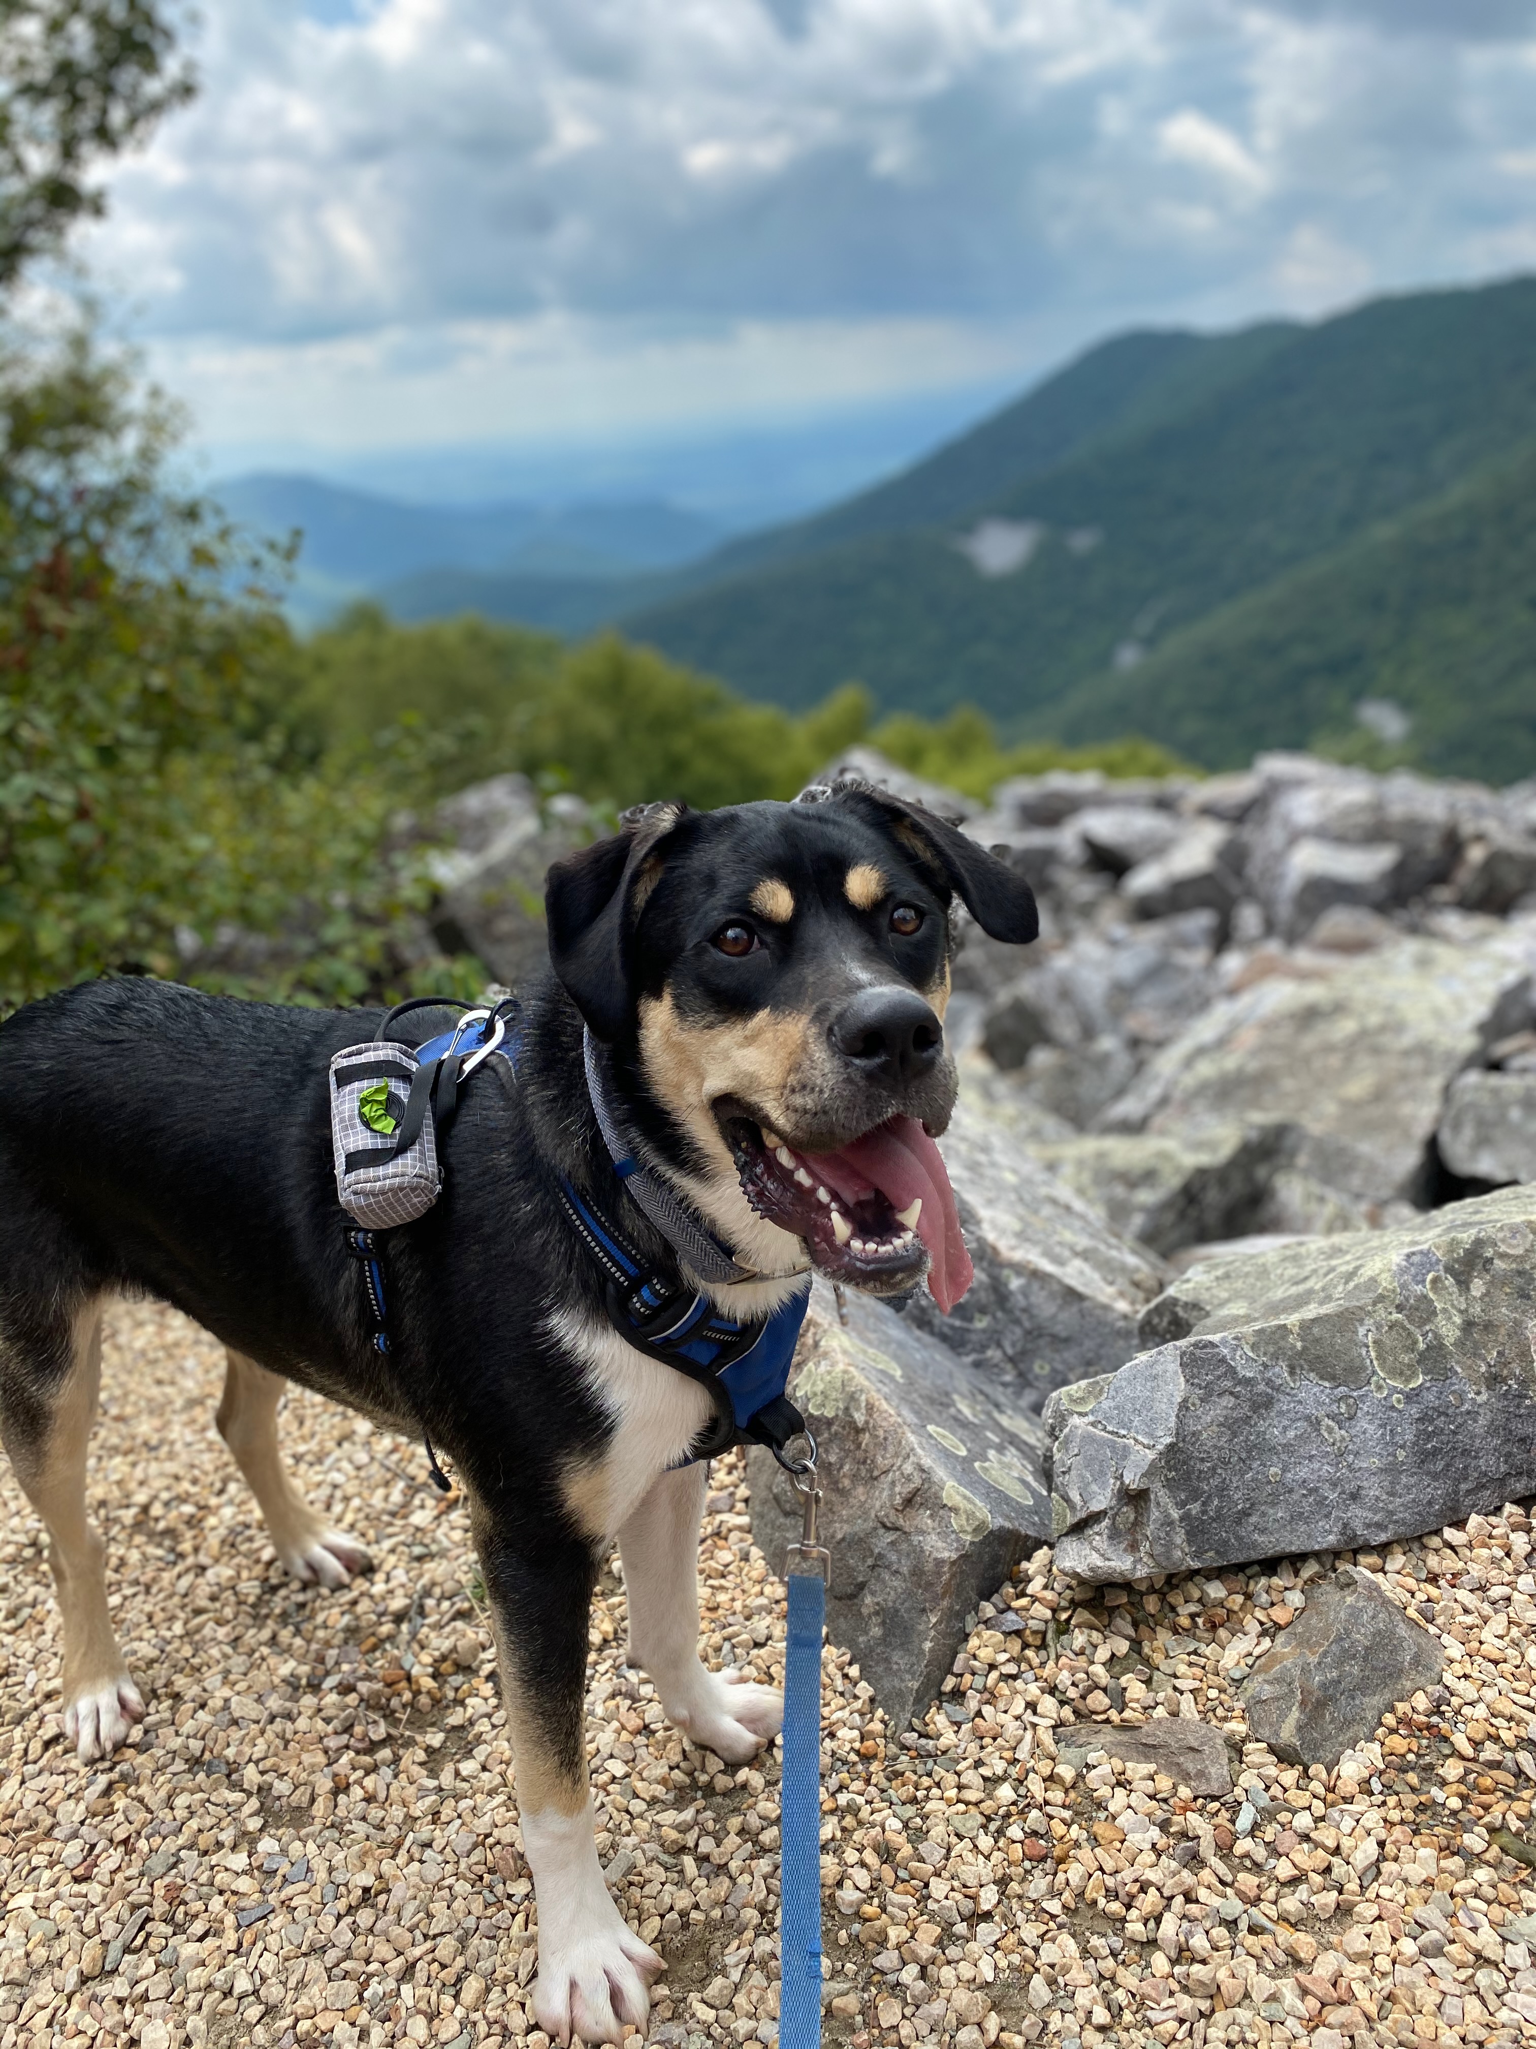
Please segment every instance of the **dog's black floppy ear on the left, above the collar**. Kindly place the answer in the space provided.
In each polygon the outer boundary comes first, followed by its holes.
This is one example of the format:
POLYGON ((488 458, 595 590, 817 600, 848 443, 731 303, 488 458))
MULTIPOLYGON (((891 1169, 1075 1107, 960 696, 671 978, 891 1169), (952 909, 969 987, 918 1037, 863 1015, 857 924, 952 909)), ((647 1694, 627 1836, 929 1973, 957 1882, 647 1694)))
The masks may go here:
POLYGON ((662 873, 657 842, 686 816, 684 803, 625 811, 621 832, 557 861, 545 877, 549 965, 596 1039, 612 1043, 631 1022, 629 943, 662 873))

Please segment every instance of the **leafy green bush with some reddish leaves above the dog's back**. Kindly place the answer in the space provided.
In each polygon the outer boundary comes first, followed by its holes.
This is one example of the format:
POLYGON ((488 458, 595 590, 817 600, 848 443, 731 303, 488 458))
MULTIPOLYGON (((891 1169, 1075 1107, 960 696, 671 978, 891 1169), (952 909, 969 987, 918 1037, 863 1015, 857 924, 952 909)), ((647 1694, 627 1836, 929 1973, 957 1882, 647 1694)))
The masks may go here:
POLYGON ((358 998, 424 893, 379 859, 403 770, 293 715, 281 563, 164 488, 172 430, 86 330, 0 354, 4 1006, 104 969, 358 998))

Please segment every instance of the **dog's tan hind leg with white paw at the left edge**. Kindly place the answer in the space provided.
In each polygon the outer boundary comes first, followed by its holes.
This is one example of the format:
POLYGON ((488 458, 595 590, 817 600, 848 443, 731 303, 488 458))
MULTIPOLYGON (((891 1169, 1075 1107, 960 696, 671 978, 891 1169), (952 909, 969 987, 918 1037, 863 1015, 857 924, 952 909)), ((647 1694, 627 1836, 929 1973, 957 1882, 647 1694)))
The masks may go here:
POLYGON ((100 1301, 76 1313, 68 1336, 51 1338, 53 1356, 41 1369, 8 1346, 0 1432, 16 1479, 47 1527, 47 1561, 63 1617, 63 1733, 80 1762, 90 1764, 117 1750, 143 1719, 143 1697, 106 1613, 106 1545, 86 1516, 86 1449, 100 1393, 100 1301), (59 1352, 68 1361, 63 1373, 59 1352))

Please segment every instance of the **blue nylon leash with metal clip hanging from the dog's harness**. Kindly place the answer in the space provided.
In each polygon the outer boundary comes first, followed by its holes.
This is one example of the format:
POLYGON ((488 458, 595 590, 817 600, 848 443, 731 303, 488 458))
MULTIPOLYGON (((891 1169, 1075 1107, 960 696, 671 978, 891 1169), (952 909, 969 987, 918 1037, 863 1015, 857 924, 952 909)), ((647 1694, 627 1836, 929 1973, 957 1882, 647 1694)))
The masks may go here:
POLYGON ((827 1551, 817 1543, 815 1440, 795 1475, 805 1504, 801 1541, 788 1547, 784 1580, 784 1770, 778 1852, 778 2049, 821 2043, 821 1629, 827 1613, 827 1551))

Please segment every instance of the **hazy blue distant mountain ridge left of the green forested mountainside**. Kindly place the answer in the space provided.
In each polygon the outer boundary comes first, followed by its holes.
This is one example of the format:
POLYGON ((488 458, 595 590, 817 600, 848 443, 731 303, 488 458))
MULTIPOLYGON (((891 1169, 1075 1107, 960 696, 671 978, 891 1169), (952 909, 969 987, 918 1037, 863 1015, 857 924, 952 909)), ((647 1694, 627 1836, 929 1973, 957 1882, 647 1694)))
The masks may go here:
POLYGON ((418 506, 307 475, 211 488, 231 518, 301 533, 297 609, 309 617, 430 572, 606 584, 692 561, 723 527, 662 502, 418 506))

